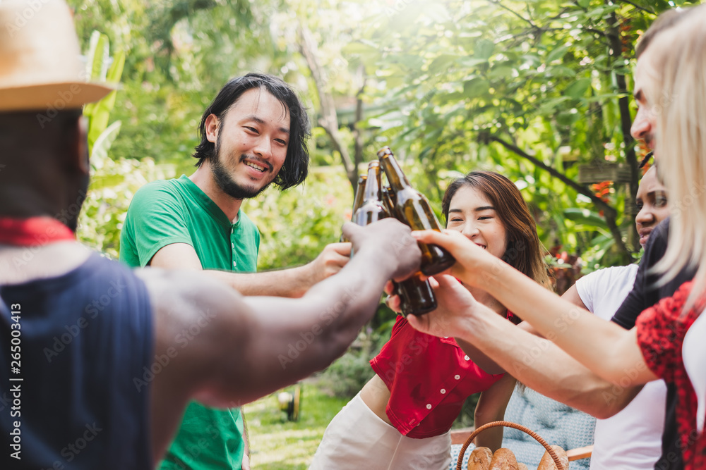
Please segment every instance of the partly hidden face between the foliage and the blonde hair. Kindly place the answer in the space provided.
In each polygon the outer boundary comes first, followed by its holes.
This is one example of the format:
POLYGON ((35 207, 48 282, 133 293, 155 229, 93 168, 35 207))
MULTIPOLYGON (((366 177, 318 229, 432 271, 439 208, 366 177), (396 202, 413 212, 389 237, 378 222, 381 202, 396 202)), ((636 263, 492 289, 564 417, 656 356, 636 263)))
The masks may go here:
POLYGON ((669 216, 666 187, 657 180, 657 170, 654 166, 642 176, 635 204, 638 205, 635 227, 640 234, 640 245, 644 248, 652 230, 669 216))

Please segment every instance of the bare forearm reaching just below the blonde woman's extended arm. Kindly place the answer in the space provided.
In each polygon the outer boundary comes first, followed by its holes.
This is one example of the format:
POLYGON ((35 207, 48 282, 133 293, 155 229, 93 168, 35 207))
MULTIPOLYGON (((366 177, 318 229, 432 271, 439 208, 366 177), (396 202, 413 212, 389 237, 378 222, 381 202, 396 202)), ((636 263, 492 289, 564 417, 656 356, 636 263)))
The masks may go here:
POLYGON ((512 326, 498 315, 480 317, 469 325, 465 336, 517 381, 597 418, 616 414, 640 390, 639 386, 606 381, 554 343, 512 326))

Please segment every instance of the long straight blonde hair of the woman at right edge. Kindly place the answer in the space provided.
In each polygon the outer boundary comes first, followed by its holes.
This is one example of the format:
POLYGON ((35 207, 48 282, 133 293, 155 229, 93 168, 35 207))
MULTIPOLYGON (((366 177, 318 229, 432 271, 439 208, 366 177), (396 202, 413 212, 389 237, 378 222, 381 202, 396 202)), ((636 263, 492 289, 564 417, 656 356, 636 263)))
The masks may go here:
POLYGON ((669 190, 669 244, 653 271, 658 285, 698 266, 684 311, 706 289, 706 5, 689 8, 659 32, 650 56, 654 88, 645 89, 657 114, 657 170, 669 190))

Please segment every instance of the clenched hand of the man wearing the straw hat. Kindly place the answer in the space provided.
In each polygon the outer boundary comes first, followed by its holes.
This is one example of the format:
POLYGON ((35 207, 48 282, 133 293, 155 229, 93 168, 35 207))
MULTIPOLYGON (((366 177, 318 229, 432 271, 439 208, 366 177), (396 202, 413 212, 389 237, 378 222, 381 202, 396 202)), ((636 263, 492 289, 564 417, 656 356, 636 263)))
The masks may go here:
POLYGON ((393 218, 383 218, 381 221, 361 227, 352 222, 343 225, 343 233, 353 243, 354 252, 375 250, 376 266, 392 266, 390 278, 405 280, 419 271, 421 251, 405 224, 393 218))

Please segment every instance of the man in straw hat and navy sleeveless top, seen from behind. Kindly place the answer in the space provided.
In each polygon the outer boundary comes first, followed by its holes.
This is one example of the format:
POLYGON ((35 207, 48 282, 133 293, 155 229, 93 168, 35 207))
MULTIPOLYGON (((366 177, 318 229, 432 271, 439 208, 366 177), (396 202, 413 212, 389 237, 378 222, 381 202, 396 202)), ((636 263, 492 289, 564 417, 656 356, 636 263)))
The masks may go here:
POLYGON ((249 402, 322 369, 386 280, 419 268, 397 221, 346 225, 355 259, 301 299, 90 252, 74 235, 89 170, 81 106, 112 88, 80 80, 64 0, 1 1, 0 25, 0 468, 153 468, 191 398, 249 402))

